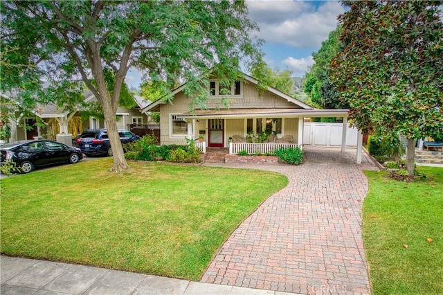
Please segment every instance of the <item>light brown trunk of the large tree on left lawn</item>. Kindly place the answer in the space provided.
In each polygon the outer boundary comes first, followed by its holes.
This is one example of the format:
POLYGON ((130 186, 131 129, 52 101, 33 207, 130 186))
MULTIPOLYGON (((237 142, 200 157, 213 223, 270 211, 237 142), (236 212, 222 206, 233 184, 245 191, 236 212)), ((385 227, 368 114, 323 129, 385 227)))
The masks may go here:
POLYGON ((105 123, 111 143, 112 157, 114 157, 114 165, 109 169, 110 172, 122 172, 129 169, 126 163, 125 154, 123 152, 120 136, 118 135, 116 111, 114 111, 107 103, 102 104, 103 115, 105 115, 105 123))

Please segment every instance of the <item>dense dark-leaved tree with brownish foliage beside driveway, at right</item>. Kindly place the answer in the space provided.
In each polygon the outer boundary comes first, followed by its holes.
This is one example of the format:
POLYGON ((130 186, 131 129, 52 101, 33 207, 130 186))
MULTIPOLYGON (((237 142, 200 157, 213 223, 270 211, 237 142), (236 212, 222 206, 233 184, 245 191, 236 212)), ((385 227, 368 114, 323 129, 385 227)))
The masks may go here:
POLYGON ((443 134, 442 1, 345 1, 338 19, 345 48, 332 60, 332 80, 363 132, 415 143, 443 134))

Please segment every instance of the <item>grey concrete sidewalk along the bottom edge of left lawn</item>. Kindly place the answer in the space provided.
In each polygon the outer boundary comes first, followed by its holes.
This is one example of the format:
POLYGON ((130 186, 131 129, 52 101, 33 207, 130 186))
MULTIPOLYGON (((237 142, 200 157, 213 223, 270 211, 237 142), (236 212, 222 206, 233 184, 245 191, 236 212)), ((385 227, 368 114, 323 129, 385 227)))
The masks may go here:
POLYGON ((289 294, 7 256, 1 256, 0 266, 2 295, 289 294))

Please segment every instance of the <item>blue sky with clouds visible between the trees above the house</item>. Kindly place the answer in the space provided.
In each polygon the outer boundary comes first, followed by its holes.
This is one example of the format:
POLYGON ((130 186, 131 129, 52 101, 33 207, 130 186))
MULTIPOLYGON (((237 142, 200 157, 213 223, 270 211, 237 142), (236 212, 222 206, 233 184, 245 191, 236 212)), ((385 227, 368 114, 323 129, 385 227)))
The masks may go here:
MULTIPOLYGON (((289 69, 302 76, 314 63, 311 53, 337 25, 337 17, 345 12, 338 1, 246 1, 249 18, 260 28, 255 35, 264 39, 264 60, 271 68, 289 69)), ((130 71, 129 87, 138 87, 140 74, 130 71)))

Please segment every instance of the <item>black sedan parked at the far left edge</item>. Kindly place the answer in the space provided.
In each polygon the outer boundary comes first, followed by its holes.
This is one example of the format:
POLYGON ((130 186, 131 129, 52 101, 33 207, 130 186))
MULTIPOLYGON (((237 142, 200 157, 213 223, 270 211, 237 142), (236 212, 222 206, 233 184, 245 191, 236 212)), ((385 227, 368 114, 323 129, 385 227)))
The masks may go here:
POLYGON ((83 159, 79 148, 46 140, 6 143, 0 146, 0 151, 0 163, 13 161, 23 173, 31 172, 35 167, 77 163, 83 159))

